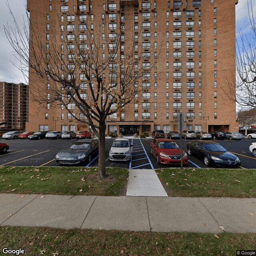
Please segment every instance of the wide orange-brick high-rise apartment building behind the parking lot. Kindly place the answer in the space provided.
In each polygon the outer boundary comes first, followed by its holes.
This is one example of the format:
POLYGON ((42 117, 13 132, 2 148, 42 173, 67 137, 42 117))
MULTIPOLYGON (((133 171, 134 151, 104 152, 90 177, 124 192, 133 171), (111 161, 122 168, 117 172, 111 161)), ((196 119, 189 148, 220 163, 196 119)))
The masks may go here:
MULTIPOLYGON (((78 43, 82 44, 87 39, 82 36, 84 24, 91 33, 97 26, 103 26, 96 22, 96 17, 102 17, 109 28, 105 36, 113 34, 113 30, 120 31, 118 24, 124 15, 132 20, 132 26, 125 24, 122 30, 121 43, 125 48, 134 38, 140 40, 142 66, 154 67, 148 74, 150 80, 139 80, 134 85, 142 88, 141 97, 126 106, 122 115, 109 116, 106 133, 177 130, 177 114, 181 112, 184 129, 226 132, 238 130, 235 102, 224 93, 235 90, 237 3, 238 0, 28 0, 27 9, 30 31, 40 31, 38 38, 46 44, 46 54, 51 48, 48 40, 55 36, 60 38, 56 44, 68 56, 70 49, 61 46, 64 31, 71 41, 69 34, 78 33, 78 43)), ((64 58, 67 65, 68 58, 64 58)), ((120 59, 122 49, 116 58, 117 65, 120 59)), ((30 90, 40 88, 43 97, 52 97, 48 91, 52 86, 50 77, 38 82, 30 72, 31 81, 36 86, 30 86, 30 90)), ((40 105, 30 98, 27 130, 88 128, 60 105, 40 105)))

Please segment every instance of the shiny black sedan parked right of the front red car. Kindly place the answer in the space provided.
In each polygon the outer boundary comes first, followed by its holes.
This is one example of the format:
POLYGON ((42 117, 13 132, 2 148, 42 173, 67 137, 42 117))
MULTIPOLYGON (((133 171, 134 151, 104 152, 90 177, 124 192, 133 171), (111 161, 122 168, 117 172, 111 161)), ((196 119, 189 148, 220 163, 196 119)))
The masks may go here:
POLYGON ((238 168, 241 164, 237 156, 228 152, 214 141, 194 140, 187 144, 187 151, 190 156, 194 155, 202 159, 206 166, 214 165, 238 168))

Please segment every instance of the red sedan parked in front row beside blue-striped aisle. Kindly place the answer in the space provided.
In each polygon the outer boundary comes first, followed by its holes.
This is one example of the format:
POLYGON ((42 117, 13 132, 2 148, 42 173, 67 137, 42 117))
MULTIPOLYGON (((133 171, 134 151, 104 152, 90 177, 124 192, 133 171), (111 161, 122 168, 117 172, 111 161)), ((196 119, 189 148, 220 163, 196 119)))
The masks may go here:
MULTIPOLYGON (((170 139, 154 139, 151 142, 150 153, 158 164, 180 164, 180 147, 170 139)), ((188 156, 183 150, 183 164, 188 163, 188 156)))

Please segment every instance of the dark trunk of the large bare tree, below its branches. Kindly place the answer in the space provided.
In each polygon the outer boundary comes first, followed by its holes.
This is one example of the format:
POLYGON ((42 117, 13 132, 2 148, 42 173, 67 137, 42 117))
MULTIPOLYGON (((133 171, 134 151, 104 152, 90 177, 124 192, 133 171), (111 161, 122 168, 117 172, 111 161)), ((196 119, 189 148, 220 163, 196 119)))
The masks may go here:
POLYGON ((100 128, 99 128, 99 174, 100 178, 106 178, 106 149, 105 149, 105 132, 106 132, 106 125, 105 125, 105 120, 100 123, 100 128))

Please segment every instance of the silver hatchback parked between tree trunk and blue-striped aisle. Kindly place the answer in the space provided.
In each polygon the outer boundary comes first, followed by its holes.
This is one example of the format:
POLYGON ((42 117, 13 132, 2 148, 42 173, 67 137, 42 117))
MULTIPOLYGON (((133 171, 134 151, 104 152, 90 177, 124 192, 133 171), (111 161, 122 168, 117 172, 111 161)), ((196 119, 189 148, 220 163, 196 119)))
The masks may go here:
POLYGON ((129 161, 131 159, 132 145, 128 138, 116 138, 110 146, 110 161, 129 161))

